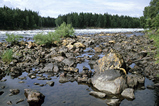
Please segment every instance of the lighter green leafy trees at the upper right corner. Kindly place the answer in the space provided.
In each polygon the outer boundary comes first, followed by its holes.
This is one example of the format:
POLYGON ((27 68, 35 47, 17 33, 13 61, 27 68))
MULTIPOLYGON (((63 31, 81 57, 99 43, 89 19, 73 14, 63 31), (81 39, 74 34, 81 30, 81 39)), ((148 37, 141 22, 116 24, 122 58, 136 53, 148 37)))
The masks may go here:
POLYGON ((140 17, 143 28, 159 28, 159 0, 151 0, 149 6, 145 7, 144 16, 140 17))

